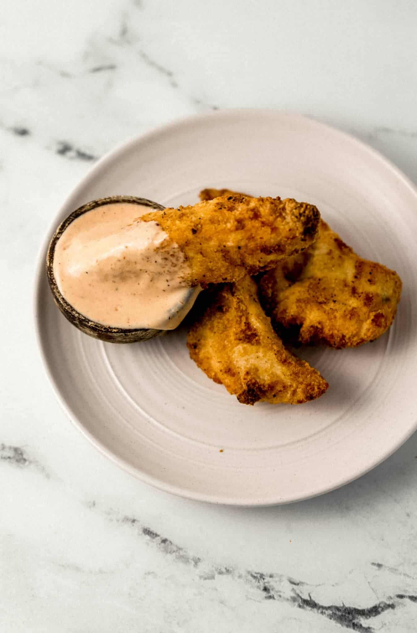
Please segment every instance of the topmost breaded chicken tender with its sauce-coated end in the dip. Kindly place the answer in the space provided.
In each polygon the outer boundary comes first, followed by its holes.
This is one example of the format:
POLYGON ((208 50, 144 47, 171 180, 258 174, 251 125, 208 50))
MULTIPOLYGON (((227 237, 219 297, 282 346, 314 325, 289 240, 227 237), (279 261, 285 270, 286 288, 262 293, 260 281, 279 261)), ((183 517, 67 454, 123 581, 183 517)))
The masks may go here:
POLYGON ((320 214, 293 199, 220 196, 194 206, 152 211, 189 265, 189 285, 218 284, 273 268, 316 239, 320 214))

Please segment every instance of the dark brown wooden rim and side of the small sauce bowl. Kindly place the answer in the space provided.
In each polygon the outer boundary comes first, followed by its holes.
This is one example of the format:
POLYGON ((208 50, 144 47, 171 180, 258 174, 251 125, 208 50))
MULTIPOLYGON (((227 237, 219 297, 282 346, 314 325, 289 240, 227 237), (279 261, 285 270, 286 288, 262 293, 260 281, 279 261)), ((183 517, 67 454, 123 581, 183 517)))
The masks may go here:
POLYGON ((101 325, 101 323, 96 323, 95 321, 91 321, 86 316, 79 313, 79 311, 75 310, 75 308, 68 303, 67 299, 65 299, 61 292, 58 289, 58 284, 56 283, 55 275, 53 272, 53 263, 54 263, 54 254, 55 254, 55 246, 58 239, 60 239, 61 235, 67 229, 68 225, 71 222, 74 222, 80 215, 83 213, 87 213, 87 211, 91 211, 98 206, 104 206, 105 204, 119 203, 119 202, 127 202, 134 204, 142 204, 144 206, 149 206, 151 209, 162 210, 165 207, 162 204, 158 204, 157 202, 153 202, 151 200, 147 200, 146 198, 139 198, 136 196, 110 196, 106 198, 101 198, 99 200, 93 200, 87 204, 83 204, 79 209, 73 211, 68 217, 61 222, 58 229, 56 229, 53 238, 49 244, 48 254, 46 255, 46 274, 48 275, 49 287, 51 288, 54 301, 58 308, 60 308, 63 315, 68 319, 72 325, 75 325, 81 332, 84 334, 88 334, 89 336, 93 336, 94 339, 99 339, 100 341, 106 341, 110 343, 136 343, 139 341, 147 341, 148 339, 153 339, 155 336, 160 336, 164 334, 165 330, 155 330, 155 329, 123 329, 120 327, 110 327, 110 325, 101 325))

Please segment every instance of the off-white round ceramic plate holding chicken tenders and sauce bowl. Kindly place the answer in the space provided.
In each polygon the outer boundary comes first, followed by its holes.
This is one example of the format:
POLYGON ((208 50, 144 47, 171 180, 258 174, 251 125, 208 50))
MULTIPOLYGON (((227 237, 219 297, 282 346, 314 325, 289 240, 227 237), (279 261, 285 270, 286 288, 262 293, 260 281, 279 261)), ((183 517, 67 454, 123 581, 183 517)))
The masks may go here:
POLYGON ((356 479, 417 426, 416 208, 413 185, 380 154, 298 115, 219 111, 119 147, 61 208, 39 263, 39 344, 61 404, 122 468, 189 498, 272 505, 356 479), (71 211, 113 194, 193 204, 207 186, 314 203, 357 253, 401 275, 395 323, 378 341, 300 352, 330 383, 317 401, 239 404, 189 359, 184 329, 106 344, 81 334, 53 304, 44 257, 71 211))

